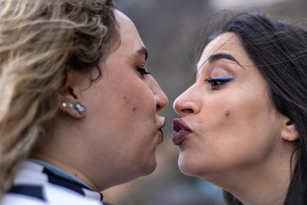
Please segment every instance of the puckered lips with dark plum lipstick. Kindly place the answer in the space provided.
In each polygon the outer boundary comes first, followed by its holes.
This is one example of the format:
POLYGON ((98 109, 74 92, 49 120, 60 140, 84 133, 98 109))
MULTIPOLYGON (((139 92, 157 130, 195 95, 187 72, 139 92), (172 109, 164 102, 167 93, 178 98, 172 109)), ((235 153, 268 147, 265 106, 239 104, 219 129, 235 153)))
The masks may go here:
POLYGON ((175 145, 181 145, 192 132, 191 128, 182 119, 175 118, 173 120, 173 143, 175 145))

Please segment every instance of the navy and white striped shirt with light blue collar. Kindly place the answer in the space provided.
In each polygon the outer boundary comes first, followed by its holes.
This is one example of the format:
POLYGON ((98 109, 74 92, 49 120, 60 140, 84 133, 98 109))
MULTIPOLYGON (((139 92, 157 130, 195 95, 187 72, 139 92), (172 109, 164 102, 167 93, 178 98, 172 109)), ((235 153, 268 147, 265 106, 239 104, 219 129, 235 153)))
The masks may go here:
POLYGON ((101 193, 77 178, 74 180, 74 176, 67 177, 68 173, 59 175, 50 167, 24 162, 0 205, 103 205, 101 193))

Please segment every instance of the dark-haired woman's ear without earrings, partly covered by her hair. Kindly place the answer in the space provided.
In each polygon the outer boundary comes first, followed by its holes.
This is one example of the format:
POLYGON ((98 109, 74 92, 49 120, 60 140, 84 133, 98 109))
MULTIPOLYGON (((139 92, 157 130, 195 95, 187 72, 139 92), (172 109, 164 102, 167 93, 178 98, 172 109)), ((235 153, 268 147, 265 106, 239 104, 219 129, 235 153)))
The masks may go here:
POLYGON ((296 125, 288 117, 282 117, 281 138, 290 142, 300 138, 296 125))

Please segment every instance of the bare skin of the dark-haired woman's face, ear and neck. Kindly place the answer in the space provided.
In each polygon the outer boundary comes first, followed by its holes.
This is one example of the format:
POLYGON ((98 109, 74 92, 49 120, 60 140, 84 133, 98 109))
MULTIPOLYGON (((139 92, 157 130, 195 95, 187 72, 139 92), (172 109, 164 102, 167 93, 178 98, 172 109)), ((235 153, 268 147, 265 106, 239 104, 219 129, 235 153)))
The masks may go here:
POLYGON ((267 83, 234 33, 211 41, 197 66, 196 83, 174 102, 193 131, 178 146, 180 170, 245 205, 281 205, 298 139, 294 126, 271 105, 267 83), (233 80, 214 87, 204 82, 209 78, 233 80))

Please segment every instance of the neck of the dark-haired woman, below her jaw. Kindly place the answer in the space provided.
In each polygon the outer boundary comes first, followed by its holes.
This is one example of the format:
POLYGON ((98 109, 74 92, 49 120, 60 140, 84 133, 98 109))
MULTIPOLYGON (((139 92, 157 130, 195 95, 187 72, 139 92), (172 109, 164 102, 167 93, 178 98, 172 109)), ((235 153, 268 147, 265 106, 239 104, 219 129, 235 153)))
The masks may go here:
POLYGON ((291 180, 291 154, 288 158, 280 155, 280 159, 268 160, 261 166, 221 171, 207 181, 229 191, 244 205, 283 205, 291 180))

